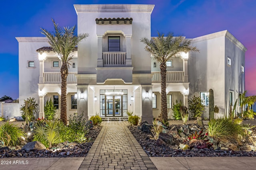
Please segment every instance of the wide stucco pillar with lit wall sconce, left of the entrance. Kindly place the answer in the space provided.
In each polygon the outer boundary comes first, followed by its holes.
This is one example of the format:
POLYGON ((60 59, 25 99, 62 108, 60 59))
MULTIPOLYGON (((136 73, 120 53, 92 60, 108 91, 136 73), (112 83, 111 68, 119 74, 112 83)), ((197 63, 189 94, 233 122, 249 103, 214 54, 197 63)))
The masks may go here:
POLYGON ((84 118, 88 120, 88 86, 77 86, 77 114, 84 113, 84 118), (83 94, 83 96, 81 96, 83 94))

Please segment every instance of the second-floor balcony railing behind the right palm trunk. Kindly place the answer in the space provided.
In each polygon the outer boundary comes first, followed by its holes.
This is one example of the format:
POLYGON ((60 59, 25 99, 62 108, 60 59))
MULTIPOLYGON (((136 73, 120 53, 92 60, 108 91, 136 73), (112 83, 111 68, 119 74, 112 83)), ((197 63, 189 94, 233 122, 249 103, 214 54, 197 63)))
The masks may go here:
MULTIPOLYGON (((152 82, 161 82, 160 71, 151 72, 153 75, 152 82)), ((184 82, 184 71, 167 71, 166 82, 184 82)))

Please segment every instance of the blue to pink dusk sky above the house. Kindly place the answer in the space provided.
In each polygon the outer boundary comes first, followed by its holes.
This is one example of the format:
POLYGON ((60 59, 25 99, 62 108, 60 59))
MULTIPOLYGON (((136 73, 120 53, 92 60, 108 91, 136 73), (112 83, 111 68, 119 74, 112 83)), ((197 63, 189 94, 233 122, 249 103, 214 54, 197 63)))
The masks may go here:
POLYGON ((43 37, 40 27, 73 26, 73 4, 154 4, 151 35, 173 32, 194 38, 228 30, 248 50, 245 53, 247 95, 256 95, 256 0, 14 0, 0 10, 0 97, 18 98, 18 41, 43 37))

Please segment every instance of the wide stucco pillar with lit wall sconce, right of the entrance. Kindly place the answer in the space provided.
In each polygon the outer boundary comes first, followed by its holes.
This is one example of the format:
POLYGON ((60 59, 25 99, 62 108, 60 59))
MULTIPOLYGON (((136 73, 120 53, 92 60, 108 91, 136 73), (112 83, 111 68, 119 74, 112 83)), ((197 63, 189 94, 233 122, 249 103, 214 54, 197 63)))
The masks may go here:
POLYGON ((141 121, 146 120, 148 123, 153 121, 153 109, 152 109, 152 85, 141 85, 141 97, 142 97, 142 117, 141 121), (146 98, 146 92, 149 93, 146 98))

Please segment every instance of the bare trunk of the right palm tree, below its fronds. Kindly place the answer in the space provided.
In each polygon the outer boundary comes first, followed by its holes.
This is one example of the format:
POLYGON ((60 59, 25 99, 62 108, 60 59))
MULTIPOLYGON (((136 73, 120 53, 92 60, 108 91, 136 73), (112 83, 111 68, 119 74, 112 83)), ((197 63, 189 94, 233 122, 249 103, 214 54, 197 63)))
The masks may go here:
POLYGON ((166 98, 166 63, 160 63, 161 71, 161 119, 168 121, 166 98))

